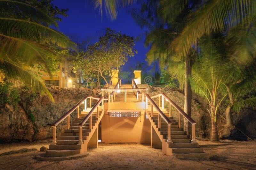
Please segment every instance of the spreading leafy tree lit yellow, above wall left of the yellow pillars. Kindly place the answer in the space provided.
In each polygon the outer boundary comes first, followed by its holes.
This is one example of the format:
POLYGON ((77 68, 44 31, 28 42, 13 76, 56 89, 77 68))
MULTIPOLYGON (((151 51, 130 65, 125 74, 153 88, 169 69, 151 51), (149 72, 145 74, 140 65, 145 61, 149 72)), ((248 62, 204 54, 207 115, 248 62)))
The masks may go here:
POLYGON ((137 50, 134 48, 133 37, 107 28, 99 42, 88 46, 84 57, 79 58, 75 64, 76 68, 87 68, 96 72, 98 83, 100 76, 106 84, 110 84, 117 70, 135 53, 137 50), (107 77, 110 78, 109 81, 107 77))

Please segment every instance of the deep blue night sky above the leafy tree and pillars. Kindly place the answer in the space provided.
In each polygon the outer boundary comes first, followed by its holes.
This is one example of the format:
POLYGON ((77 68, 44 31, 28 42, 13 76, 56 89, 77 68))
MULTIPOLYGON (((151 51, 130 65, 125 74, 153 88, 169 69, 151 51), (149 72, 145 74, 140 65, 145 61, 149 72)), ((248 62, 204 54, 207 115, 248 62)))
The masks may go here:
MULTIPOLYGON (((136 38, 145 33, 145 30, 138 26, 127 9, 120 7, 116 20, 111 20, 110 17, 103 12, 103 16, 99 13, 99 9, 94 9, 94 4, 91 0, 54 0, 52 2, 60 9, 68 8, 68 17, 63 17, 59 23, 59 31, 68 35, 74 41, 74 37, 79 37, 80 40, 86 39, 88 36, 93 37, 92 43, 99 40, 99 37, 104 35, 105 29, 110 28, 115 31, 133 36, 136 38)), ((144 38, 140 41, 135 41, 135 48, 138 54, 128 59, 128 62, 123 66, 123 71, 128 71, 130 66, 137 62, 144 62, 146 58, 147 48, 143 45, 144 38)))

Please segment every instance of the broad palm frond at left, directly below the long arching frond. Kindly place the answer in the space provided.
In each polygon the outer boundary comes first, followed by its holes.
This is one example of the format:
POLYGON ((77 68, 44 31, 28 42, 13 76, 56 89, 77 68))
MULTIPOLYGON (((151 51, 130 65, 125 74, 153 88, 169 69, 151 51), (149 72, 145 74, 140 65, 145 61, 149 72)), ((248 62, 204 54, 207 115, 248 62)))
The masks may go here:
POLYGON ((40 62, 45 66, 48 73, 51 74, 47 61, 47 56, 51 55, 53 53, 47 47, 35 41, 0 34, 0 60, 20 60, 28 64, 40 62))

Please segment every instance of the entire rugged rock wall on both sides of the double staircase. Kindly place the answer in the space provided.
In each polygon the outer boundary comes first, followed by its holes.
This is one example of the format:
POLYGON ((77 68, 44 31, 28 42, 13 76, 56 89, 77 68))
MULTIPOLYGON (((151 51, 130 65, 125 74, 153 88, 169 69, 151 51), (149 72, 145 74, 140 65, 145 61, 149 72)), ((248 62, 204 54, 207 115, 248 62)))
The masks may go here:
MULTIPOLYGON (((21 92, 21 101, 15 108, 6 104, 0 108, 0 142, 20 142, 33 141, 52 137, 51 124, 64 115, 84 96, 101 96, 100 88, 95 89, 77 89, 77 88, 59 88, 49 87, 55 103, 49 101, 47 96, 37 94, 35 98, 29 97, 26 92, 21 92)), ((150 87, 149 95, 153 96, 164 92, 181 109, 184 109, 184 94, 178 89, 164 87, 150 87)), ((154 99, 158 103, 158 99, 154 99)), ((93 102, 93 100, 92 100, 93 102)), ((164 104, 169 109, 166 101, 164 104)), ((207 112, 208 105, 200 97, 193 94, 192 100, 192 118, 197 122, 196 136, 198 138, 209 138, 211 133, 211 119, 207 112)), ((80 108, 82 109, 82 107, 80 108)), ((245 109, 240 114, 232 116, 233 123, 244 131, 248 136, 256 138, 256 111, 245 109)), ((178 120, 178 112, 173 109, 172 116, 178 120)), ((76 111, 71 114, 70 119, 76 118, 76 111)), ((183 120, 182 120, 183 123, 183 120)), ((224 124, 226 121, 218 118, 218 130, 220 138, 241 138, 246 140, 243 134, 236 129, 227 129, 224 124), (225 131, 225 133, 224 133, 225 131), (228 131, 228 132, 227 132, 228 131)), ((66 120, 57 126, 57 136, 61 130, 66 127, 66 120)))

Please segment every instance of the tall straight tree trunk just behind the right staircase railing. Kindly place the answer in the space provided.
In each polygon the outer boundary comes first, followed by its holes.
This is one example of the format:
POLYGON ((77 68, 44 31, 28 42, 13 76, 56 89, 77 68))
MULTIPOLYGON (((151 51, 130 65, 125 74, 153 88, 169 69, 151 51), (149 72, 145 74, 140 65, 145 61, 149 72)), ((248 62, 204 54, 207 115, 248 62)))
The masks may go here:
MULTIPOLYGON (((189 78, 191 78, 192 61, 190 57, 185 59, 185 83, 184 83, 184 112, 191 117, 191 99, 192 91, 189 78)), ((188 135, 192 135, 192 125, 187 119, 184 119, 184 131, 187 131, 188 135)))

